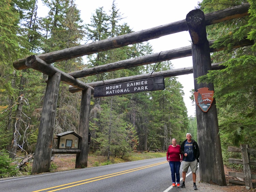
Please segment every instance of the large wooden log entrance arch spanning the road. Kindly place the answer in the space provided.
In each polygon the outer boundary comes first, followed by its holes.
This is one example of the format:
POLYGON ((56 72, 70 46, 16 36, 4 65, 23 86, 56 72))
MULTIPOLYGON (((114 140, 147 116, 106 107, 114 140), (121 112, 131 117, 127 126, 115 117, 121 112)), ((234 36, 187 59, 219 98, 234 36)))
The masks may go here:
MULTIPOLYGON (((82 136, 80 142, 81 152, 77 153, 75 167, 86 167, 88 158, 88 136, 89 136, 89 104, 91 93, 94 87, 111 85, 115 83, 124 83, 134 80, 146 79, 148 77, 170 77, 194 73, 194 78, 207 74, 208 70, 220 69, 219 63, 211 64, 210 52, 222 50, 210 48, 213 41, 208 42, 205 26, 221 23, 226 20, 239 18, 248 15, 248 3, 234 6, 226 10, 214 13, 203 14, 200 10, 191 11, 186 20, 176 21, 174 23, 161 25, 158 27, 120 35, 114 38, 105 39, 98 42, 88 43, 72 48, 54 51, 39 56, 30 56, 25 59, 17 60, 13 66, 17 70, 33 68, 48 75, 45 100, 43 104, 42 117, 39 127, 38 143, 35 150, 32 174, 48 172, 51 162, 53 127, 57 107, 58 89, 60 81, 69 84, 71 93, 82 91, 81 111, 78 134, 82 136), (200 18, 197 20, 197 18, 200 18), (198 31, 196 29, 199 29, 198 31), (192 39, 192 45, 173 50, 162 51, 139 58, 128 59, 101 65, 95 68, 76 71, 73 73, 64 73, 53 67, 51 63, 76 58, 84 55, 94 54, 100 51, 123 47, 130 44, 156 39, 164 35, 173 34, 181 31, 189 31, 192 39), (201 52, 201 53, 200 53, 201 52), (200 54, 199 54, 200 53, 200 54), (193 67, 156 72, 153 74, 142 74, 137 76, 123 77, 117 79, 105 80, 104 82, 93 82, 85 84, 77 78, 98 73, 110 72, 114 70, 136 67, 139 65, 151 64, 160 61, 167 61, 176 58, 188 57, 193 55, 193 67), (201 57, 203 56, 203 57, 201 57), (201 69, 201 72, 198 70, 201 69)), ((236 47, 252 45, 254 42, 249 40, 241 41, 236 47)), ((214 89, 212 84, 197 84, 194 82, 195 91, 201 87, 214 89)), ((215 102, 215 101, 214 101, 215 102)), ((198 143, 200 147, 200 180, 208 183, 225 185, 225 175, 221 153, 221 143, 218 135, 218 121, 216 106, 213 105, 207 113, 196 108, 198 122, 198 143), (214 107, 213 107, 214 106, 214 107), (211 143, 211 145, 209 145, 211 143)))

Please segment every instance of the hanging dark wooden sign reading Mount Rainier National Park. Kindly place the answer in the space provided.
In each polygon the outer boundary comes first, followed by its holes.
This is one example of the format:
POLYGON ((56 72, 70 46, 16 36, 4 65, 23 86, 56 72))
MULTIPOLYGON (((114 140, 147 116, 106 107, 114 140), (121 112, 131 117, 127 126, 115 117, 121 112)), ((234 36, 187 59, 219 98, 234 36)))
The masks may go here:
POLYGON ((165 83, 163 76, 153 77, 132 82, 94 87, 94 98, 164 89, 165 83))

